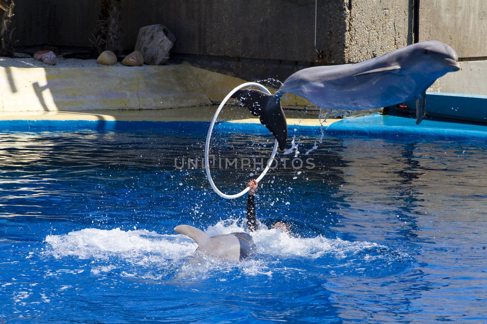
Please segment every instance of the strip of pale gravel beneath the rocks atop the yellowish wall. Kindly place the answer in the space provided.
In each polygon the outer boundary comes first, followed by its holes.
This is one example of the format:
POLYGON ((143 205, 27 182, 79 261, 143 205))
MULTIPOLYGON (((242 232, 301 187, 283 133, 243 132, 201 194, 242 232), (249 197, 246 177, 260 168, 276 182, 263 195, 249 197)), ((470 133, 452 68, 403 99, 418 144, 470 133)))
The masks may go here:
MULTIPOLYGON (((35 60, 32 56, 23 53, 15 53, 16 56, 21 56, 22 58, 11 58, 11 57, 0 57, 0 67, 1 68, 67 68, 67 67, 107 67, 107 65, 102 65, 96 63, 96 60, 80 60, 76 58, 64 58, 62 56, 57 56, 57 63, 55 66, 50 66, 35 60)), ((115 66, 124 66, 122 63, 117 62, 115 66)))

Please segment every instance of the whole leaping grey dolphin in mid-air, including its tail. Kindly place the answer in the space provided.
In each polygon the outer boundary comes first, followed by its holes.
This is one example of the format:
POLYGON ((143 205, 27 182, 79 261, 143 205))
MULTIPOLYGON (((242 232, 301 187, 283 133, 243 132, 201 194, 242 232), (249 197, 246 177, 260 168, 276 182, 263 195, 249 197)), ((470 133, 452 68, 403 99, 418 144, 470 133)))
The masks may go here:
POLYGON ((361 110, 416 99, 416 124, 425 116, 426 89, 448 72, 458 71, 457 53, 430 40, 356 64, 303 68, 289 76, 274 95, 244 89, 240 100, 276 137, 284 150, 287 124, 281 107, 284 93, 308 99, 326 109, 361 110))

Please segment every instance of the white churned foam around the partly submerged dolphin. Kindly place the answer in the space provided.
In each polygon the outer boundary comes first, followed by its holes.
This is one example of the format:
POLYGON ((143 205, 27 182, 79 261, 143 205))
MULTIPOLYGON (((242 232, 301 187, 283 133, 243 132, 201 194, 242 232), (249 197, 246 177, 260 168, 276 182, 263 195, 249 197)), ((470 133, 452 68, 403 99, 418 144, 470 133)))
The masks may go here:
MULTIPOLYGON (((214 236, 243 232, 242 224, 239 219, 223 220, 209 226, 206 233, 214 236)), ((233 271, 237 275, 272 275, 281 259, 316 259, 321 256, 342 259, 370 250, 385 251, 369 256, 374 259, 387 258, 391 252, 373 242, 351 242, 322 236, 302 238, 264 227, 251 233, 257 245, 257 256, 242 262, 222 262, 195 252, 197 244, 184 235, 158 234, 148 230, 123 231, 120 228, 85 228, 63 235, 48 235, 44 254, 55 258, 88 259, 94 274, 191 280, 233 271)))

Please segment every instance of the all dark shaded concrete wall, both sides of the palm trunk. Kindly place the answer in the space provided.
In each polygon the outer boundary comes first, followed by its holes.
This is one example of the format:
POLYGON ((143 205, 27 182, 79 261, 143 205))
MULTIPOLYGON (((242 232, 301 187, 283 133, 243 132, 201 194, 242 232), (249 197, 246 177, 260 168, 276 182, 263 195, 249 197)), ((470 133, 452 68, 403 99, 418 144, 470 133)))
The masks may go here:
MULTIPOLYGON (((19 46, 88 47, 101 0, 17 1, 19 46)), ((328 61, 343 56, 343 0, 320 0, 320 48, 328 61)), ((313 49, 314 0, 122 1, 122 44, 132 50, 140 27, 162 23, 185 54, 318 61, 313 49)))

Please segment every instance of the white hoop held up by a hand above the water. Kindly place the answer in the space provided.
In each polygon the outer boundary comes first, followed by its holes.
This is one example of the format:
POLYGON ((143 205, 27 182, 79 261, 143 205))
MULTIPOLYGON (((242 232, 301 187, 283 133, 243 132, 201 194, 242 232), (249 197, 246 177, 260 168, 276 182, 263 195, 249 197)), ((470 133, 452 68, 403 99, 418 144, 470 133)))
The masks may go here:
MULTIPOLYGON (((210 147, 211 132, 213 131, 213 126, 215 125, 215 121, 216 121, 216 119, 218 117, 218 114, 220 114, 220 111, 222 110, 223 106, 228 101, 228 99, 230 99, 230 97, 237 90, 240 90, 243 87, 246 87, 246 86, 249 86, 249 85, 257 86, 257 87, 261 88, 263 91, 267 92, 268 94, 271 94, 269 92, 269 90, 267 90, 267 88, 265 86, 260 85, 260 84, 255 83, 255 82, 247 82, 247 83, 244 83, 242 85, 237 86, 235 89, 233 89, 232 91, 230 91, 226 95, 225 99, 218 106, 218 109, 216 110, 215 115, 213 116, 213 119, 211 119, 211 124, 210 124, 210 127, 208 128, 208 135, 206 135, 206 145, 205 145, 205 169, 206 169, 206 177, 208 178, 208 181, 209 181, 209 183, 211 185, 211 188, 213 188, 213 190, 215 190, 215 192, 220 197, 223 197, 223 198, 226 198, 226 199, 238 198, 238 197, 244 195, 248 190, 250 190, 250 188, 247 187, 244 190, 242 190, 239 193, 236 193, 234 195, 227 195, 227 194, 223 193, 222 191, 220 191, 218 188, 216 188, 215 183, 213 182, 213 179, 211 178, 210 166, 209 166, 209 163, 208 163, 208 152, 209 152, 209 147, 210 147)), ((277 139, 276 139, 276 142, 274 143, 274 149, 272 150, 271 157, 270 157, 269 160, 267 160, 267 165, 265 166, 265 169, 262 171, 261 175, 256 179, 257 182, 261 181, 261 179, 264 177, 265 173, 267 173, 267 171, 269 171, 269 167, 271 166, 272 162, 274 161, 274 156, 276 155, 277 147, 278 147, 278 142, 277 142, 277 139)))

